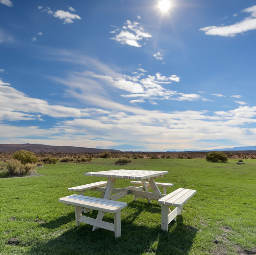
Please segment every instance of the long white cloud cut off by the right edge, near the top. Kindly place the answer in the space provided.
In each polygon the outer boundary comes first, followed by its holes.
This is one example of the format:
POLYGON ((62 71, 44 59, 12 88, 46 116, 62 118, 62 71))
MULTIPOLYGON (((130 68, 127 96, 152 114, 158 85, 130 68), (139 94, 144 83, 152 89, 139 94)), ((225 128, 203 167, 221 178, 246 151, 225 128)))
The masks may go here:
POLYGON ((229 26, 209 26, 200 28, 199 30, 205 32, 206 35, 230 37, 250 30, 256 30, 256 5, 243 9, 242 11, 251 13, 251 16, 229 26))

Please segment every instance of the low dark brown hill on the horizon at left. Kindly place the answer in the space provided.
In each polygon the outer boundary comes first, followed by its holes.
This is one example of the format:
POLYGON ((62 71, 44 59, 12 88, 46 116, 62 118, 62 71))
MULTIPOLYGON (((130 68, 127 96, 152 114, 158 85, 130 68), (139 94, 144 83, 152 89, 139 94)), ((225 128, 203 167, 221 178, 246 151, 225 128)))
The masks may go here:
POLYGON ((100 152, 122 152, 121 150, 94 149, 75 146, 53 146, 43 144, 0 144, 0 152, 15 152, 17 150, 30 150, 32 152, 48 153, 100 153, 100 152))

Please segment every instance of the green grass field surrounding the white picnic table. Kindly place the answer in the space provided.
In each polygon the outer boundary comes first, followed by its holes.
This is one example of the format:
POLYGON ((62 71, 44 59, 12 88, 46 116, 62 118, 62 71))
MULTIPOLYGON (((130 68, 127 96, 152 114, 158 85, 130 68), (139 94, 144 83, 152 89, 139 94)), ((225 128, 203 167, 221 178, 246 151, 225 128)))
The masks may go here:
MULTIPOLYGON (((87 164, 43 165, 42 176, 0 179, 0 254, 255 254, 256 160, 210 163, 205 159, 134 159, 115 165, 116 159, 93 159, 87 164), (84 172, 114 169, 168 170, 158 182, 196 189, 183 207, 183 215, 161 231, 161 206, 157 201, 128 195, 120 201, 122 236, 105 229, 76 227, 74 208, 59 203, 71 195, 69 187, 104 181, 84 172)), ((115 187, 129 186, 117 180, 115 187)), ((87 196, 99 192, 87 191, 87 196)), ((172 208, 171 208, 172 209, 172 208)), ((96 211, 87 214, 96 217, 96 211)), ((112 214, 103 218, 114 222, 112 214)))

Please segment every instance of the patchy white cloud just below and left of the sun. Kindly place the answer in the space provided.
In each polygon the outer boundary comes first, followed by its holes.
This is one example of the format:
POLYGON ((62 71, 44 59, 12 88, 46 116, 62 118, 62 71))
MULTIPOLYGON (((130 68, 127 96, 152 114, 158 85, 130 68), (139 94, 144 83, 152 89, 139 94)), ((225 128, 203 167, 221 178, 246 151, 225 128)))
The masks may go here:
MULTIPOLYGON (((112 32, 112 31, 111 31, 112 32)), ((130 20, 125 22, 121 32, 110 38, 121 44, 128 44, 134 47, 141 47, 138 41, 152 37, 148 32, 144 31, 144 28, 140 26, 140 23, 130 20)))

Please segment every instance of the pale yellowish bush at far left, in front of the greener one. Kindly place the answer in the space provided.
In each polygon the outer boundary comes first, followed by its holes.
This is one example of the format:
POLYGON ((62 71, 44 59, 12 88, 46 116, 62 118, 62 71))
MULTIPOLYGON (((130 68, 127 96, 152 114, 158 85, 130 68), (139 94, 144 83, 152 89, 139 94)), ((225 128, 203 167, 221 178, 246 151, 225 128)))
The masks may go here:
POLYGON ((23 165, 19 160, 13 159, 7 162, 6 169, 10 176, 20 176, 27 174, 28 172, 33 172, 35 166, 35 164, 31 163, 26 163, 23 165))

